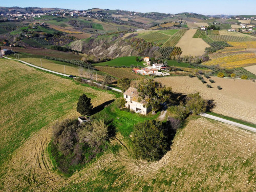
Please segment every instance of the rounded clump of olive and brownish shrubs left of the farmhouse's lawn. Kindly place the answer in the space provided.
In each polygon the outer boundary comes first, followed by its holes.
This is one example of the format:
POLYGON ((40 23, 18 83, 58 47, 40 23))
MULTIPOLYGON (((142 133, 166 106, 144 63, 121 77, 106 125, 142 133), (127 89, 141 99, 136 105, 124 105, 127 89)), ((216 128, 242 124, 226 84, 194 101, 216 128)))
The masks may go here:
POLYGON ((76 165, 91 161, 104 150, 109 139, 104 120, 79 125, 78 120, 66 119, 53 126, 51 154, 65 174, 75 172, 76 165))

